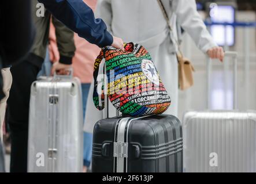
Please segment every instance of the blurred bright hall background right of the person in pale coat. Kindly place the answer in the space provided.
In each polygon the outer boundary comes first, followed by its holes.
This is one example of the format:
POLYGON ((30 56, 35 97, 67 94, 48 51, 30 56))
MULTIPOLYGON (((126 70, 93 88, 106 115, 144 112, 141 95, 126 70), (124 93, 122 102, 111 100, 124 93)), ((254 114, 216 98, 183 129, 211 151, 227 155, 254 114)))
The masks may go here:
MULTIPOLYGON (((256 109, 256 1, 197 0, 198 11, 215 41, 225 51, 238 52, 237 109, 256 109), (214 25, 212 25, 215 23, 214 25), (216 24, 217 23, 217 24, 216 24)), ((195 67, 195 85, 179 93, 179 118, 187 110, 207 109, 207 60, 188 36, 183 34, 184 56, 195 67)), ((233 109, 233 62, 212 61, 209 108, 233 109)))

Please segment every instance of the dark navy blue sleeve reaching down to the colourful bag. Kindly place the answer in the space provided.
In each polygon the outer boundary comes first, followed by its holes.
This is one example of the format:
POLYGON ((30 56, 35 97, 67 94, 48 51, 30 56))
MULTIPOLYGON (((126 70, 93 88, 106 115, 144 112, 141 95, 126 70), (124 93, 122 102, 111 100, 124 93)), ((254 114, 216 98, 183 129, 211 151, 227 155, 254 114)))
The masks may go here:
POLYGON ((113 37, 106 24, 95 19, 92 9, 83 0, 38 0, 55 18, 98 47, 112 45, 113 37))

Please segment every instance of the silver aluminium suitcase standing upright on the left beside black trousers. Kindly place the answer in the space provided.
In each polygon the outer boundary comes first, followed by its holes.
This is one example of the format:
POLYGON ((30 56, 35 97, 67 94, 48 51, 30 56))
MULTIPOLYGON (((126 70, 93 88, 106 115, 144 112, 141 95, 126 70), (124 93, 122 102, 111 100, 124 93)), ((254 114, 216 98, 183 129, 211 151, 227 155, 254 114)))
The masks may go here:
POLYGON ((41 78, 31 86, 28 172, 83 170, 83 112, 79 79, 41 78))

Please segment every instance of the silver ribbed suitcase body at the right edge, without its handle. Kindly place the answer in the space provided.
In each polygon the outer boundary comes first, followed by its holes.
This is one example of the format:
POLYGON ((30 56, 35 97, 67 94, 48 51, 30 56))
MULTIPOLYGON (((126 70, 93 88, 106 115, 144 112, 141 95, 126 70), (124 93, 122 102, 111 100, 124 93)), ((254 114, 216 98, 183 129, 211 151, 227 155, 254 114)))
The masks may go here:
POLYGON ((256 172, 256 112, 188 112, 183 132, 184 172, 256 172))

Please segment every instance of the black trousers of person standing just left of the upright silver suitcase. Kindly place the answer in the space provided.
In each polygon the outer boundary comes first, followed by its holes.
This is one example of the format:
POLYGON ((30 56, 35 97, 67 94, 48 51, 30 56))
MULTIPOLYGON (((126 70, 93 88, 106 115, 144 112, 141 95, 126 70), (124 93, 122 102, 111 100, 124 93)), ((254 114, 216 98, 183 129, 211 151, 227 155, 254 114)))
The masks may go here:
POLYGON ((12 141, 10 172, 27 172, 28 114, 30 87, 40 68, 28 61, 13 66, 12 88, 8 99, 9 127, 12 141))

